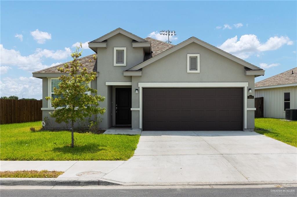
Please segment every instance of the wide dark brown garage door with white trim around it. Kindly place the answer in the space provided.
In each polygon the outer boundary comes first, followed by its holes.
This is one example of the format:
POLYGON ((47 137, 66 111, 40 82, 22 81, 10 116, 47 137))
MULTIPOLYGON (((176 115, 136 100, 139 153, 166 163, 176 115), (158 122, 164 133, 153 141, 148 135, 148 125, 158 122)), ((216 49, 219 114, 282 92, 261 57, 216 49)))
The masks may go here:
POLYGON ((242 88, 143 88, 143 130, 242 130, 242 123, 242 88))

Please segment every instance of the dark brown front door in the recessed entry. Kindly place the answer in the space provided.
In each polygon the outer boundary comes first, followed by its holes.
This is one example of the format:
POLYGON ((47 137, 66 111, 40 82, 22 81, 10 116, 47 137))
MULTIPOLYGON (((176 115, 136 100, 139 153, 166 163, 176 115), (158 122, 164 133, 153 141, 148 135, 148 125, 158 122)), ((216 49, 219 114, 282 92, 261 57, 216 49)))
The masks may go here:
POLYGON ((116 88, 116 125, 131 125, 131 88, 116 88))

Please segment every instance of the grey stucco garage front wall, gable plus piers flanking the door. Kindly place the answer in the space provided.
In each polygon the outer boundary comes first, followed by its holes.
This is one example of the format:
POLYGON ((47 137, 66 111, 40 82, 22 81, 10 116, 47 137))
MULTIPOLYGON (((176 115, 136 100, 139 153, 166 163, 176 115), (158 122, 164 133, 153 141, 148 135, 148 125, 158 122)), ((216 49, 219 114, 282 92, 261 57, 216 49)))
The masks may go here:
MULTIPOLYGON (((147 65, 142 76, 132 76, 132 108, 139 108, 138 82, 248 82, 254 95, 254 76, 246 76, 244 67, 196 43, 189 44, 147 65), (200 54, 200 73, 187 73, 187 54, 200 54)), ((254 99, 247 107, 254 108, 254 99)), ((132 127, 139 128, 139 111, 132 112, 132 127)), ((254 128, 254 111, 247 112, 247 128, 254 128)))

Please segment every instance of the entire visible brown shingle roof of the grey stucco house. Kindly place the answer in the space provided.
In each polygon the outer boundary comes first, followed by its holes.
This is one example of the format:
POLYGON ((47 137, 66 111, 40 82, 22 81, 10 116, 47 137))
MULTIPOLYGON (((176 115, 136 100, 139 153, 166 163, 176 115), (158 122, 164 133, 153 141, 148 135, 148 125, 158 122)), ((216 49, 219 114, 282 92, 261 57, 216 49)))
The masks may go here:
MULTIPOLYGON (((145 40, 151 43, 152 53, 146 54, 143 58, 143 61, 146 61, 149 58, 154 57, 154 56, 158 55, 159 53, 162 53, 162 52, 166 51, 167 49, 170 49, 171 47, 174 46, 173 44, 169 44, 169 43, 159 41, 159 40, 149 38, 149 37, 145 38, 145 40)), ((85 57, 82 57, 79 59, 80 63, 82 63, 83 66, 86 67, 89 72, 91 72, 91 71, 97 72, 97 61, 93 60, 93 55, 97 55, 97 54, 88 55, 88 56, 85 56, 85 57), (93 61, 89 62, 90 59, 93 61)), ((67 62, 67 63, 69 63, 69 62, 67 62)), ((63 67, 64 64, 65 63, 59 64, 56 66, 52 66, 49 68, 45 68, 41 71, 36 71, 34 73, 60 73, 58 71, 58 68, 63 67)))

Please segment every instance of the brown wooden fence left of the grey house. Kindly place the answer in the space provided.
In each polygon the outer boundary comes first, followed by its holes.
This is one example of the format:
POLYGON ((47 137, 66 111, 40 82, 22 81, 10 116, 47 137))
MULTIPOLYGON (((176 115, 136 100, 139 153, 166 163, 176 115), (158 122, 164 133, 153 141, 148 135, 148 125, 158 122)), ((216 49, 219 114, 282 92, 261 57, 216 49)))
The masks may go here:
POLYGON ((0 124, 42 120, 42 100, 0 99, 0 124))

